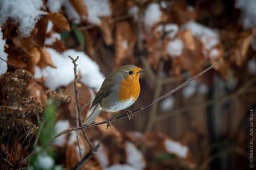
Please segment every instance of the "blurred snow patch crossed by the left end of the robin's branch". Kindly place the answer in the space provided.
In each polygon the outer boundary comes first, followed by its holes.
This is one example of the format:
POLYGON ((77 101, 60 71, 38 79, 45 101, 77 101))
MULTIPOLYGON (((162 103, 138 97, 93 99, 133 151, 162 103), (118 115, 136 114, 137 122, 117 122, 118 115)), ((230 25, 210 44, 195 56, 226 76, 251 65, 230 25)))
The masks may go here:
MULTIPOLYGON (((57 121, 54 127, 55 133, 60 133, 60 131, 66 130, 70 127, 69 121, 68 120, 60 120, 57 121)), ((66 134, 57 137, 54 141, 53 144, 57 146, 64 146, 66 143, 66 134)))

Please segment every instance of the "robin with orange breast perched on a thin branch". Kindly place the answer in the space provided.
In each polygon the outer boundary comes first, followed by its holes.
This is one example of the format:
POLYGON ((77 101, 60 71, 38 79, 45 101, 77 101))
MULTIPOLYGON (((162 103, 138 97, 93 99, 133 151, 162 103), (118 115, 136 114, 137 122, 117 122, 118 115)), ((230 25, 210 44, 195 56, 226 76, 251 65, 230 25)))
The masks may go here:
MULTIPOLYGON (((141 91, 139 75, 145 71, 134 65, 126 65, 111 72, 92 101, 89 117, 84 124, 89 125, 94 122, 101 111, 118 112, 132 105, 141 91)), ((128 111, 127 116, 130 119, 132 113, 128 111)), ((107 118, 107 128, 110 125, 109 121, 110 119, 107 118)))

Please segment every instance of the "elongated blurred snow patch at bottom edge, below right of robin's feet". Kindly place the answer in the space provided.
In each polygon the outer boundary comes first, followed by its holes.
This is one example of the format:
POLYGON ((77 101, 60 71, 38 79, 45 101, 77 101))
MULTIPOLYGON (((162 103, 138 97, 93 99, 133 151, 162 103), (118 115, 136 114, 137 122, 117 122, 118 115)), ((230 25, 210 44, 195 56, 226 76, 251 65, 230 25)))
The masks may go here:
POLYGON ((126 162, 134 166, 137 169, 144 169, 146 163, 143 158, 143 154, 136 146, 129 141, 126 141, 126 162))

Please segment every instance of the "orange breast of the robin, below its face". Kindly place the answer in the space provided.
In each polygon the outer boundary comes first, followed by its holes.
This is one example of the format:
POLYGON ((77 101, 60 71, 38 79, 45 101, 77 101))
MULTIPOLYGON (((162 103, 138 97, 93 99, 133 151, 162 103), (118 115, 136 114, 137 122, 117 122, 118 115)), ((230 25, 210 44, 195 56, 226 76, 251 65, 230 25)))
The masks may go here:
POLYGON ((126 101, 131 98, 136 100, 140 91, 141 86, 139 85, 139 76, 136 76, 129 81, 122 80, 118 90, 118 99, 120 99, 120 101, 126 101))

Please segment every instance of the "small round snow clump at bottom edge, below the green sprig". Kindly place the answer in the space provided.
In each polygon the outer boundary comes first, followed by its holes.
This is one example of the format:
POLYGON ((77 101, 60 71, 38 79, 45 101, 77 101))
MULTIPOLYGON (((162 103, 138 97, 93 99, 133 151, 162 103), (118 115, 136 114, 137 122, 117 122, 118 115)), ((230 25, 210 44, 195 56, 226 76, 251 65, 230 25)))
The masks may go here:
POLYGON ((51 169, 53 168, 54 160, 46 154, 41 154, 38 156, 35 165, 39 169, 51 169))

